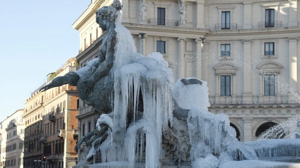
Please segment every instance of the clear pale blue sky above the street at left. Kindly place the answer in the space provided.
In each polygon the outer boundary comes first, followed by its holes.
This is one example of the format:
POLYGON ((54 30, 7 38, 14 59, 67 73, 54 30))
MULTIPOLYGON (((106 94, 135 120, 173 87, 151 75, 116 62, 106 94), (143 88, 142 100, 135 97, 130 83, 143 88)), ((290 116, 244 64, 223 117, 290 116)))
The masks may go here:
POLYGON ((0 0, 0 122, 79 50, 72 24, 91 0, 0 0))

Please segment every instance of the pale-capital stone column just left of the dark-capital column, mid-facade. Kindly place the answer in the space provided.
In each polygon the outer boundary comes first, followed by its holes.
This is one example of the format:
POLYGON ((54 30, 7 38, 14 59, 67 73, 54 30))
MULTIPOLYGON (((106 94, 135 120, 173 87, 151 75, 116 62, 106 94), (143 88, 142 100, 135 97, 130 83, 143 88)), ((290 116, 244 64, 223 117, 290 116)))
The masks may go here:
POLYGON ((177 52, 177 79, 185 78, 185 62, 184 62, 184 40, 183 38, 177 38, 178 52, 177 52))

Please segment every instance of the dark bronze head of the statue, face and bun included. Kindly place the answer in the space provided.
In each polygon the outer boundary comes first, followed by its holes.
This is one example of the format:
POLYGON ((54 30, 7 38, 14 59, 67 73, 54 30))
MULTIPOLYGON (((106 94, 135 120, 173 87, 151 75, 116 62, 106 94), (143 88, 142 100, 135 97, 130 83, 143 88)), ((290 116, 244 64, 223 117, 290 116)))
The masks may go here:
POLYGON ((118 0, 113 1, 112 6, 103 6, 96 11, 96 22, 102 29, 108 22, 115 22, 118 17, 118 11, 122 9, 121 2, 118 0))

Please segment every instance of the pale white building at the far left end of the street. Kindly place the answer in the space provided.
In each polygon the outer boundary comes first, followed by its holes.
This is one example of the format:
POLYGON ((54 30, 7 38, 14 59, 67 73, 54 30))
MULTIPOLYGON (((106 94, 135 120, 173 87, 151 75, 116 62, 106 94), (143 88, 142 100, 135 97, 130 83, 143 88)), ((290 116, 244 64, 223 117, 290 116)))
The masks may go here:
POLYGON ((20 109, 0 123, 0 167, 23 168, 24 110, 20 109))

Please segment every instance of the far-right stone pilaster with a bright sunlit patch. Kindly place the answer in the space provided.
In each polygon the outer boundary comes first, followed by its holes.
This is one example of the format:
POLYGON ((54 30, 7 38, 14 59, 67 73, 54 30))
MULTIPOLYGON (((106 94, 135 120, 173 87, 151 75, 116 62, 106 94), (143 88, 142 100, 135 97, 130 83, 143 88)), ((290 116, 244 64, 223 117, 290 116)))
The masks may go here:
MULTIPOLYGON (((297 37, 289 37, 289 85, 290 89, 296 91, 297 86, 297 37)), ((289 103, 294 103, 294 100, 290 99, 289 103)))

